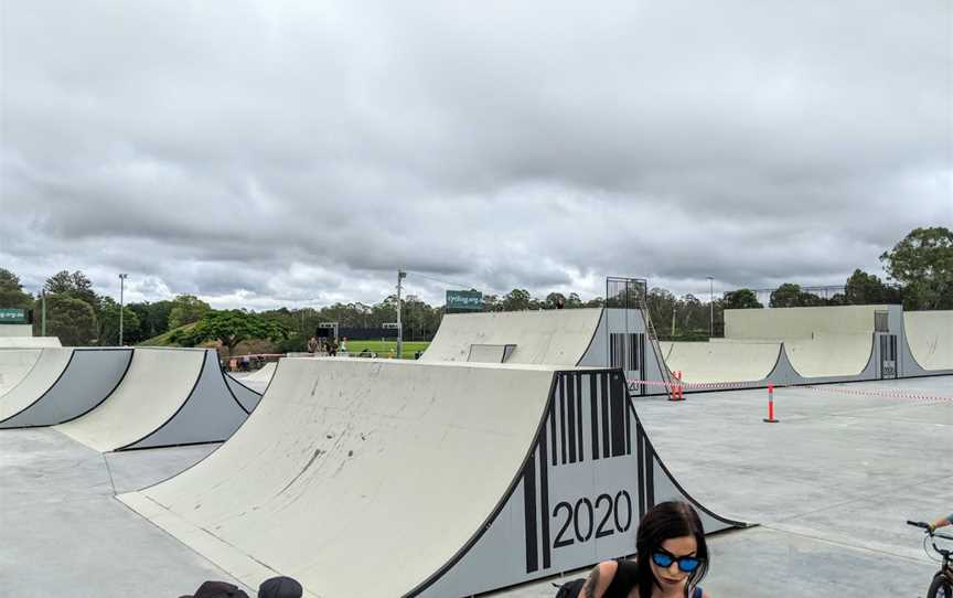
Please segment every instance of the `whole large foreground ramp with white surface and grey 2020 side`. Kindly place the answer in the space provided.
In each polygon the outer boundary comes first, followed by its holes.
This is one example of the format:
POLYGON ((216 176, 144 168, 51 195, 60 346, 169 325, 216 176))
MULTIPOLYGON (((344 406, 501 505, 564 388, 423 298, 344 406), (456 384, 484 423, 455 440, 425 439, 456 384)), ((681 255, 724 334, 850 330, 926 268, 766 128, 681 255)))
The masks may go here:
POLYGON ((619 371, 341 357, 281 360, 227 442, 118 496, 249 587, 387 598, 634 554, 640 515, 673 498, 690 500, 619 371))

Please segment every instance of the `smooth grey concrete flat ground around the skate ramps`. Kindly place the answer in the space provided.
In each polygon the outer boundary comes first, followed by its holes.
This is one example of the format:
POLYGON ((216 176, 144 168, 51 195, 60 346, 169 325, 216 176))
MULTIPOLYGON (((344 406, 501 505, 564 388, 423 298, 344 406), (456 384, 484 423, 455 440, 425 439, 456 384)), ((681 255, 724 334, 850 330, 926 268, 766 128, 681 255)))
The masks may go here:
MULTIPOLYGON (((951 376, 779 388, 779 424, 761 421, 763 389, 636 399, 636 409, 688 492, 760 524, 710 538, 713 596, 892 598, 923 596, 936 569, 904 521, 950 510, 953 399, 931 397, 951 396, 951 376)), ((101 455, 53 429, 0 430, 0 585, 24 597, 174 598, 232 580, 114 499, 214 448, 101 455)), ((552 597, 554 580, 493 596, 552 597)))

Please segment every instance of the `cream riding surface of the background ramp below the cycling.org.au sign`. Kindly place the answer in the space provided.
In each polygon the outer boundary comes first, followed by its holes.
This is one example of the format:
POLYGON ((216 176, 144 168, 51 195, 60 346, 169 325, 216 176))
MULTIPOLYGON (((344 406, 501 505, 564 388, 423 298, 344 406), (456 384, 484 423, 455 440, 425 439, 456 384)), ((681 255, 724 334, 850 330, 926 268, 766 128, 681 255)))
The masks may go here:
POLYGON ((515 345, 506 363, 576 365, 599 325, 602 310, 555 309, 450 313, 427 351, 425 363, 465 362, 473 345, 515 345))

